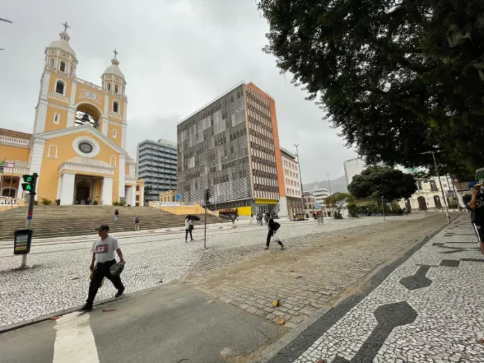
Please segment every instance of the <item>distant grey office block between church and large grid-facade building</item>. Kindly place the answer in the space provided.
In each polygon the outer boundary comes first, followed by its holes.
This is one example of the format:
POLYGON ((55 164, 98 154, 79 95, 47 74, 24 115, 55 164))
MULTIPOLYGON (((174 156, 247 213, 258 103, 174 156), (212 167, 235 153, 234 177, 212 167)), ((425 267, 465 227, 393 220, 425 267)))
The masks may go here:
POLYGON ((138 177, 145 180, 145 204, 177 189, 177 144, 163 138, 138 144, 138 177))

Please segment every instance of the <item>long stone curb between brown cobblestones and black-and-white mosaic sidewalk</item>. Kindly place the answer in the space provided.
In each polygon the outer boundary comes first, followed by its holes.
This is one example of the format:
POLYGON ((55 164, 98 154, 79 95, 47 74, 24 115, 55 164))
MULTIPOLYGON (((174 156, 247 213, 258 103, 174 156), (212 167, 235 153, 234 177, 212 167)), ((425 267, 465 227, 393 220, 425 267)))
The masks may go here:
MULTIPOLYGON (((456 216, 451 220, 451 222, 458 219, 459 217, 460 216, 456 216)), ((437 229, 432 234, 426 236, 421 241, 415 243, 414 245, 411 245, 406 250, 396 255, 392 260, 386 261, 385 263, 376 267, 373 271, 371 271, 371 273, 369 273, 364 277, 364 280, 360 280, 360 282, 355 282, 355 284, 360 285, 360 289, 359 291, 357 291, 357 293, 355 293, 353 296, 346 296, 346 297, 339 298, 336 302, 334 302, 334 305, 332 307, 322 307, 317 312, 315 312, 312 316, 310 316, 307 319, 307 321, 303 322, 297 328, 294 328, 293 330, 291 330, 279 341, 276 341, 274 344, 264 349, 262 353, 259 355, 259 357, 255 360, 252 360, 251 363, 268 363, 271 360, 275 359, 277 353, 279 353, 281 350, 283 350, 289 344, 291 344, 291 342, 295 340, 297 337, 299 337, 300 334, 302 334, 302 332, 305 332, 305 330, 310 328, 314 323, 317 323, 321 318, 324 318, 325 316, 329 316, 333 310, 341 307, 342 305, 347 305, 346 309, 344 309, 344 313, 339 314, 341 316, 336 316, 337 317, 336 320, 334 320, 334 318, 332 319, 334 321, 332 321, 330 326, 332 326, 334 323, 337 323, 337 321, 339 321, 339 318, 344 316, 346 312, 348 312, 350 309, 352 309, 358 303, 360 303, 360 301, 362 301, 366 296, 368 296, 369 293, 371 293, 371 291, 376 289, 383 281, 385 281, 387 277, 393 271, 396 270, 396 268, 401 266, 401 264, 403 264, 410 257, 412 257, 412 255, 414 255, 415 252, 419 251, 428 241, 430 241, 430 239, 433 239, 433 237, 435 237, 437 234, 442 232, 442 230, 444 230, 446 227, 449 227, 449 224, 444 225, 443 227, 437 229)), ((349 288, 350 287, 348 287, 348 289, 349 288)), ((317 339, 314 339, 314 341, 316 340, 317 339)), ((309 344, 309 346, 312 346, 312 344, 314 344, 314 341, 312 341, 312 343, 309 344)), ((298 344, 297 348, 294 348, 293 351, 297 349, 297 350, 302 350, 302 353, 303 353, 305 350, 307 350, 307 348, 300 348, 301 345, 302 344, 298 344)), ((297 357, 294 358, 293 360, 296 360, 296 359, 297 357)), ((293 360, 291 360, 291 362, 293 360)))

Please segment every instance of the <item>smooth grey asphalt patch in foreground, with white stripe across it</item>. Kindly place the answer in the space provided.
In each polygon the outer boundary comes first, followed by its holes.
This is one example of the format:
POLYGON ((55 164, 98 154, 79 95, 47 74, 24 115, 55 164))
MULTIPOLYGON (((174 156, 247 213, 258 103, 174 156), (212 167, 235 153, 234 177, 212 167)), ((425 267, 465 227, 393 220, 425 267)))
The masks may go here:
POLYGON ((176 284, 3 333, 0 361, 239 363, 285 332, 176 284))

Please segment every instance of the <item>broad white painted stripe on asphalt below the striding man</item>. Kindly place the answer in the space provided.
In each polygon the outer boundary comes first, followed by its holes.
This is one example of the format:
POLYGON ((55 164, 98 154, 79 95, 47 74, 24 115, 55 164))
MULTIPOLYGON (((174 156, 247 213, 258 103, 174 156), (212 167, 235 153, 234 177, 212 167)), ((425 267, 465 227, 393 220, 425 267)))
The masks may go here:
POLYGON ((99 363, 89 314, 73 312, 58 318, 52 363, 99 363))

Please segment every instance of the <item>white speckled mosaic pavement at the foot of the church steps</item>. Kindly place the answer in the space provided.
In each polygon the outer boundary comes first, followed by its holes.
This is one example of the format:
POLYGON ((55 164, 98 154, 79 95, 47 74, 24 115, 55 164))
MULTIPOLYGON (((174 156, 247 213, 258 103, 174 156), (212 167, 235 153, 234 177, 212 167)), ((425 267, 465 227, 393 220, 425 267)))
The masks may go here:
MULTIPOLYGON (((419 220, 424 217, 424 213, 420 213, 392 218, 419 220)), ((313 220, 297 223, 285 221, 282 222, 280 235, 284 240, 305 236, 309 238, 315 234, 337 233, 343 229, 350 230, 380 223, 382 218, 327 218, 323 226, 318 226, 313 220)), ((228 253, 229 261, 221 257, 217 259, 217 266, 214 266, 216 269, 244 259, 241 256, 243 253, 234 255, 236 248, 247 248, 247 256, 250 256, 251 251, 261 253, 266 233, 265 226, 261 227, 255 222, 248 223, 246 220, 234 225, 209 225, 207 252, 203 250, 203 229, 198 226, 195 229, 193 243, 184 243, 182 227, 120 234, 120 245, 127 260, 122 275, 127 293, 179 280, 200 258, 201 268, 207 269, 207 259, 211 260, 211 254, 216 252, 223 256, 223 251, 231 251, 228 253)), ((7 328, 13 324, 32 321, 63 309, 83 305, 88 291, 90 246, 94 238, 95 236, 76 236, 71 239, 36 240, 28 257, 31 268, 25 270, 15 269, 19 266, 20 257, 13 256, 13 243, 1 242, 0 327, 7 328)), ((195 270, 197 271, 196 266, 195 270)), ((114 294, 115 289, 111 282, 106 281, 104 287, 99 289, 97 301, 111 298, 114 294)), ((296 320, 295 318, 294 321, 296 320)))

